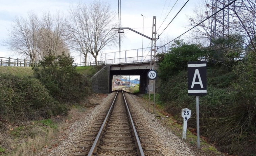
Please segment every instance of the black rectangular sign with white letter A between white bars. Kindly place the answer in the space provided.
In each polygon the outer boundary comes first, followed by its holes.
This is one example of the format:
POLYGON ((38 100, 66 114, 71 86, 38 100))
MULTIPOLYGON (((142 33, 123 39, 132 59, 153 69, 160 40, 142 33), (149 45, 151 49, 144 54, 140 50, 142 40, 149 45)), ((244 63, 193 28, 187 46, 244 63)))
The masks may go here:
POLYGON ((188 95, 206 95, 206 61, 188 62, 188 95))

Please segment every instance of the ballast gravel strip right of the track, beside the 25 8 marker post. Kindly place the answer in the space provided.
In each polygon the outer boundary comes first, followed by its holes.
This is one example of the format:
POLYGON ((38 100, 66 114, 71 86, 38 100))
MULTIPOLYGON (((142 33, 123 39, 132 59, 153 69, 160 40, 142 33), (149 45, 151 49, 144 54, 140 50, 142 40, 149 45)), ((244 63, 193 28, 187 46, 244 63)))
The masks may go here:
MULTIPOLYGON (((143 123, 147 135, 152 138, 153 145, 148 145, 155 148, 159 155, 163 156, 193 156, 195 155, 180 138, 163 127, 154 114, 148 113, 142 105, 136 100, 137 96, 127 94, 126 98, 129 103, 133 104, 137 117, 143 123)), ((146 152, 145 152, 146 155, 146 152)))

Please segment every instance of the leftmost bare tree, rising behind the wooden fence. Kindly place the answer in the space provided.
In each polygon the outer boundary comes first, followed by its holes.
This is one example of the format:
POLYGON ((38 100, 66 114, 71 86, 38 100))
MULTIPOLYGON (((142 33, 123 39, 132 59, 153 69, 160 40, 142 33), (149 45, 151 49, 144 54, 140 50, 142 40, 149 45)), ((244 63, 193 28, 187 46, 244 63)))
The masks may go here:
POLYGON ((8 30, 9 39, 4 43, 14 54, 27 56, 34 61, 38 52, 39 27, 38 17, 33 12, 28 13, 28 18, 16 17, 11 30, 8 30))

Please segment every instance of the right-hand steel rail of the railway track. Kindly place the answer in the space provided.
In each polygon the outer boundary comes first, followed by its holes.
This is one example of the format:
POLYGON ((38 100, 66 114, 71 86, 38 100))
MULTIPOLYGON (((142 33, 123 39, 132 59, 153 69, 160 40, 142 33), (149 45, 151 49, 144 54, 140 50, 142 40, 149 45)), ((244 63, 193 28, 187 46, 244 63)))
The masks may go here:
MULTIPOLYGON (((122 90, 122 94, 123 94, 123 90, 122 90)), ((137 153, 139 156, 144 156, 144 152, 143 152, 143 149, 141 147, 141 144, 140 144, 140 139, 139 139, 139 136, 137 134, 137 131, 135 129, 135 126, 134 126, 134 123, 133 123, 133 119, 132 119, 132 116, 131 116, 131 113, 130 113, 130 110, 129 110, 129 107, 127 105, 127 102, 126 102, 126 99, 124 97, 124 94, 123 94, 123 99, 124 99, 124 102, 125 102, 125 105, 126 105, 126 108, 127 108, 127 112, 129 114, 129 119, 130 119, 130 122, 132 124, 132 131, 134 133, 134 137, 135 137, 135 143, 136 143, 136 146, 137 146, 137 153)))

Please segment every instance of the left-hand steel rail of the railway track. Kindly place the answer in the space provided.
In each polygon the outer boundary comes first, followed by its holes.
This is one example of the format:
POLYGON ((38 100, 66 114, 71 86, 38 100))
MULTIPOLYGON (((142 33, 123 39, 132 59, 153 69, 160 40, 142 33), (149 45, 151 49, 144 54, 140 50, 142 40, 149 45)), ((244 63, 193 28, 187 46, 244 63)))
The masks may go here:
POLYGON ((110 112, 111 112, 111 109, 112 109, 112 107, 113 107, 113 105, 114 105, 114 103, 115 103, 115 101, 116 101, 116 97, 117 97, 118 92, 119 92, 119 90, 118 90, 117 93, 116 93, 116 96, 115 96, 115 98, 114 98, 114 100, 113 100, 113 102, 112 102, 112 104, 111 104, 111 106, 110 106, 110 108, 109 108, 108 114, 106 115, 106 117, 105 117, 105 119, 104 119, 104 121, 103 121, 103 123, 102 123, 102 125, 101 125, 101 127, 100 127, 100 129, 99 129, 99 132, 98 132, 98 134, 97 134, 97 136, 96 136, 96 138, 95 138, 95 141, 93 142, 92 147, 91 147, 91 149, 90 149, 90 151, 89 151, 89 153, 88 153, 87 156, 93 156, 93 153, 96 152, 96 147, 98 146, 99 141, 100 141, 100 139, 101 139, 101 137, 102 137, 103 128, 105 127, 105 124, 106 124, 106 122, 107 122, 107 119, 108 119, 108 117, 109 117, 109 114, 110 114, 110 112))

